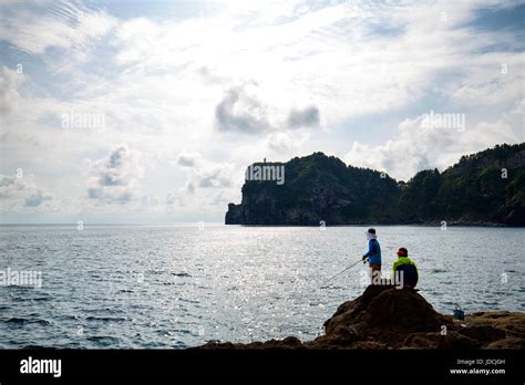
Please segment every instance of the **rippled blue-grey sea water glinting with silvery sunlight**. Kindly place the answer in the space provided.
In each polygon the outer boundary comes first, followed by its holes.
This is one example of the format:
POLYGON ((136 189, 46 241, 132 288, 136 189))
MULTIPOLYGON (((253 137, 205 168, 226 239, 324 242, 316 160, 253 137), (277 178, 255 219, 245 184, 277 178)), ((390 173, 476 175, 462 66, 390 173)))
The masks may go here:
MULTIPOLYGON (((0 347, 310 340, 364 288, 361 264, 322 285, 360 259, 364 230, 1 226, 0 347), (34 271, 41 284, 12 284, 8 271, 34 271)), ((455 303, 466 312, 525 311, 525 229, 384 226, 378 235, 383 270, 406 247, 437 311, 452 313, 455 303)))

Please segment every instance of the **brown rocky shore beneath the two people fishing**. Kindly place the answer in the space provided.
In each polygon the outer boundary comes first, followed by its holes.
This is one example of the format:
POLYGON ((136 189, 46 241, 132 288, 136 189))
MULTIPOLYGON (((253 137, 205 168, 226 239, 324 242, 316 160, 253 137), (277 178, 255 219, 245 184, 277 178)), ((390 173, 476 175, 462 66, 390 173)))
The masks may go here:
POLYGON ((313 341, 288 336, 248 344, 209 342, 197 348, 525 348, 525 313, 478 312, 459 321, 437 313, 415 291, 370 285, 342 303, 325 322, 325 335, 313 341))

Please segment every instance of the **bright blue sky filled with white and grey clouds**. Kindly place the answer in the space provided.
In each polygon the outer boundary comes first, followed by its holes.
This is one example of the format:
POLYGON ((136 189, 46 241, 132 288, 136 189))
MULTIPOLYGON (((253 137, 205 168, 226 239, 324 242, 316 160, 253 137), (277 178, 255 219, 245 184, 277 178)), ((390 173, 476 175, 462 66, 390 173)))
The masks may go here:
POLYGON ((0 223, 222 222, 264 158, 409 180, 524 142, 524 23, 512 0, 0 0, 0 223))

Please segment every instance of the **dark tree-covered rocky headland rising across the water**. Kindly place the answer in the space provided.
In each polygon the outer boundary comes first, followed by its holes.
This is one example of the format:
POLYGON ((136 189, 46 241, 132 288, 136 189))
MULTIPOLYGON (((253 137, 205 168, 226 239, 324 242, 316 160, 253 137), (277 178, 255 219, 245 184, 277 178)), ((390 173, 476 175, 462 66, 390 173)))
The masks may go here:
POLYGON ((226 225, 525 226, 525 143, 464 156, 408 183, 322 153, 264 165, 284 166, 282 183, 246 180, 240 205, 228 205, 226 225))

